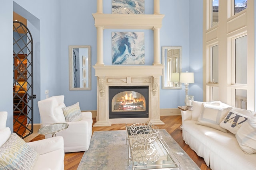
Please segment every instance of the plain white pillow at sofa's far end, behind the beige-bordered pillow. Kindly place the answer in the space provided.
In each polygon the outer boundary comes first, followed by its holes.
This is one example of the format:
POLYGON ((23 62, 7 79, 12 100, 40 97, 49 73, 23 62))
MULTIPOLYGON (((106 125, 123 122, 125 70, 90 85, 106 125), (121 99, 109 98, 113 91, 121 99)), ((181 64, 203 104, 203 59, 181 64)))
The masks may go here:
POLYGON ((197 121, 198 117, 201 113, 202 104, 211 104, 214 106, 219 106, 220 101, 212 101, 212 102, 198 102, 198 101, 192 101, 193 110, 192 110, 192 118, 191 120, 197 121))

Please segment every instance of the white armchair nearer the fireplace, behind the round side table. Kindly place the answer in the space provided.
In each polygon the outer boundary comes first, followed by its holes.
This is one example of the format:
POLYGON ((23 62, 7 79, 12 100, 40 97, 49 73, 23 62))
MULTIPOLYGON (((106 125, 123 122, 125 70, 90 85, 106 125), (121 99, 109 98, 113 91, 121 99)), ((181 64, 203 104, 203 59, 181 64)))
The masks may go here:
MULTIPOLYGON (((66 107, 63 95, 52 96, 39 101, 38 108, 42 127, 52 123, 66 122, 62 107, 66 107)), ((82 120, 67 123, 69 124, 68 128, 56 134, 56 136, 62 136, 64 139, 64 151, 78 152, 88 150, 92 137, 92 112, 82 112, 82 120)), ((45 137, 51 138, 52 135, 48 134, 45 137)))

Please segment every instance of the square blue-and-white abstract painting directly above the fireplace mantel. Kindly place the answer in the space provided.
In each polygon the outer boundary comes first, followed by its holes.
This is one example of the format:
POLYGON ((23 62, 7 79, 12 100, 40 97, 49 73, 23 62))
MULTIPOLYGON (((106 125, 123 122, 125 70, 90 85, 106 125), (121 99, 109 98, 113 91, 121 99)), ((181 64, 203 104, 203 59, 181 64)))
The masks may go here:
POLYGON ((144 32, 112 32, 112 64, 145 64, 144 32))

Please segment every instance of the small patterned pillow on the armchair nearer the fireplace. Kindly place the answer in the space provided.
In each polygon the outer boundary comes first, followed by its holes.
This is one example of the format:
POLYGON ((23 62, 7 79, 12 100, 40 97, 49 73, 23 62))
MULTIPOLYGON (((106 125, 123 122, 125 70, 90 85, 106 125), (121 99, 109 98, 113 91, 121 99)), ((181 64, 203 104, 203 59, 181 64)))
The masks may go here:
POLYGON ((82 113, 79 102, 73 104, 72 106, 62 107, 62 111, 65 116, 66 122, 82 120, 82 113))

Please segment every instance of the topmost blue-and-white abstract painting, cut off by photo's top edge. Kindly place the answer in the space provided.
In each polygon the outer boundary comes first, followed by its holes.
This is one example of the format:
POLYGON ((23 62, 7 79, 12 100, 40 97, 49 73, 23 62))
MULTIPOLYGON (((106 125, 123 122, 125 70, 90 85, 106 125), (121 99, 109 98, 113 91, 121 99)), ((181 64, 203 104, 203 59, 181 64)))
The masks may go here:
POLYGON ((144 0, 112 0, 112 14, 144 14, 144 0))

